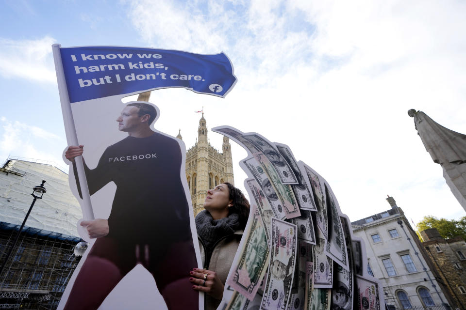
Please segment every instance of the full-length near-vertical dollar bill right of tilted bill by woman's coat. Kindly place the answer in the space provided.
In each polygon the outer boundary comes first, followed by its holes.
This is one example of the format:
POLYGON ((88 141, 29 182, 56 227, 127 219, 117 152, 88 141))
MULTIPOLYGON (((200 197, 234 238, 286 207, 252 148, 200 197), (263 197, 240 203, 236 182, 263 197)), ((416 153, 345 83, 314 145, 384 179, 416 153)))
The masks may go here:
POLYGON ((261 302, 263 310, 285 310, 290 298, 296 263, 296 226, 272 218, 269 271, 261 302))

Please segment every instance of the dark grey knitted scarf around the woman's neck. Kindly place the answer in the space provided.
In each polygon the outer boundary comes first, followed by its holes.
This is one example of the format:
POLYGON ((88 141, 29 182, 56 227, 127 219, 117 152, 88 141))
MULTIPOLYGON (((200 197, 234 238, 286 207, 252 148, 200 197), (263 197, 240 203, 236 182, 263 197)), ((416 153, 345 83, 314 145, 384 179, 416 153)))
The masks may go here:
POLYGON ((195 221, 198 236, 208 253, 212 252, 218 239, 233 234, 240 227, 239 216, 236 213, 221 219, 213 219, 209 212, 202 210, 195 221))

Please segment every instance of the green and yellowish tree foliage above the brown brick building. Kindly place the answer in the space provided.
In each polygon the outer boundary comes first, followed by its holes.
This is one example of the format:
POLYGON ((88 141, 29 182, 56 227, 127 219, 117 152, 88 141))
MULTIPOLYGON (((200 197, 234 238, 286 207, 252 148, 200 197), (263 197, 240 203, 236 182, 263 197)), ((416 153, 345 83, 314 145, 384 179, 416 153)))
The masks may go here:
POLYGON ((437 218, 429 215, 417 223, 416 228, 418 232, 422 232, 429 228, 436 228, 438 233, 445 239, 461 236, 466 240, 466 216, 461 217, 459 220, 455 220, 437 218))

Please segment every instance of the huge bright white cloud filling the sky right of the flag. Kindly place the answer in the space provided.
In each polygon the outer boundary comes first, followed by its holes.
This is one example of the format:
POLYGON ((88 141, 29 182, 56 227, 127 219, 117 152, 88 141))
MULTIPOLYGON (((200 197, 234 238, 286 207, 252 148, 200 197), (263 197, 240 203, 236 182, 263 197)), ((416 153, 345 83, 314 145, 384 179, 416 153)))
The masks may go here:
MULTIPOLYGON (((205 106, 210 127, 289 144, 329 181, 352 220, 389 208, 387 194, 415 221, 464 214, 406 114, 421 109, 466 133, 464 3, 132 3, 129 15, 150 47, 223 50, 233 62, 238 83, 226 99, 180 93, 191 105, 178 108, 205 106)), ((182 114, 162 123, 173 135, 180 124, 196 128, 196 116, 166 107, 169 95, 152 98, 163 99, 164 115, 182 114)), ((190 147, 195 130, 186 129, 190 147)), ((235 175, 244 176, 239 167, 235 175)))

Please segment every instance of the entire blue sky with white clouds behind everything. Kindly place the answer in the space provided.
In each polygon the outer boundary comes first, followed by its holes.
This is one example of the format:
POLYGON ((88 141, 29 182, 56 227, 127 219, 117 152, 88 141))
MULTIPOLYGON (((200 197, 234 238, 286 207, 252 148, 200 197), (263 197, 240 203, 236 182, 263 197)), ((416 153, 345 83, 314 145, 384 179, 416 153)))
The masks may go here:
MULTIPOLYGON (((387 194, 415 222, 458 218, 465 212, 406 112, 466 133, 465 9, 462 1, 1 1, 0 161, 63 165, 54 43, 223 51, 238 78, 232 92, 153 92, 160 130, 181 128, 189 148, 203 106, 209 128, 288 144, 351 220, 388 209, 387 194)), ((220 136, 209 137, 220 149, 220 136)), ((246 155, 233 152, 234 162, 246 155)), ((241 186, 238 166, 235 176, 241 186)))

